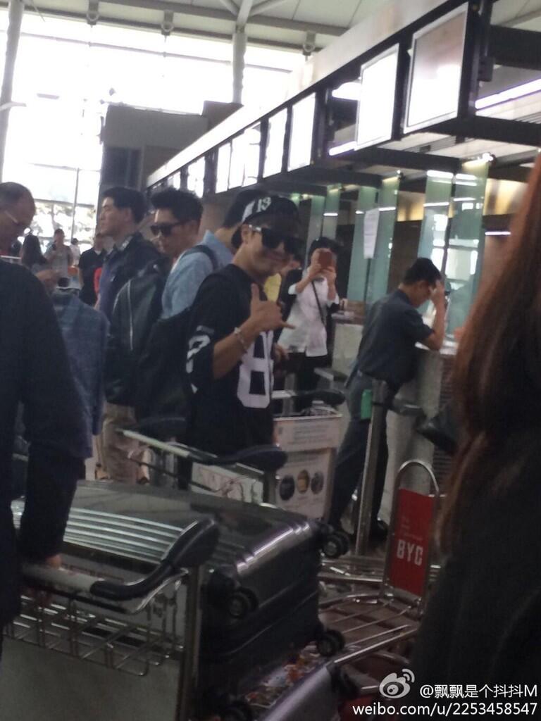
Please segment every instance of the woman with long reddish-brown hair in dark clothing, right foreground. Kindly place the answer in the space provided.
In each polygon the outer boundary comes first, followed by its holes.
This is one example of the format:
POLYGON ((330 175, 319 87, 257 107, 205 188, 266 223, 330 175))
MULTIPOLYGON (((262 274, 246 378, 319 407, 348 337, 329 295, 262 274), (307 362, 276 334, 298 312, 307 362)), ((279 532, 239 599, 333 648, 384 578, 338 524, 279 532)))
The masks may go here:
POLYGON ((541 680, 540 199, 538 159, 506 262, 459 345, 463 434, 441 527, 447 561, 415 646, 416 689, 541 680))

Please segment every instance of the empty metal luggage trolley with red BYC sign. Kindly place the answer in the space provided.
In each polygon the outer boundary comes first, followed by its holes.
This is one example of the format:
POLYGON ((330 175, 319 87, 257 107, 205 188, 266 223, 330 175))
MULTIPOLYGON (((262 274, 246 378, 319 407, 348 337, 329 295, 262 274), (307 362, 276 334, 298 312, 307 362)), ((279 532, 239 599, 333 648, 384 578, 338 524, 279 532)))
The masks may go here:
MULTIPOLYGON (((379 590, 358 578, 343 576, 349 592, 320 603, 325 623, 346 639, 335 665, 352 663, 378 651, 389 650, 415 636, 426 602, 434 552, 434 523, 439 508, 439 486, 424 461, 407 461, 401 466, 393 497, 390 538, 384 560, 383 582, 379 590), (408 472, 415 470, 428 480, 428 492, 410 490, 405 485, 408 472)), ((323 579, 329 577, 322 574, 323 579)), ((338 576, 340 578, 340 576, 338 576)), ((336 583, 337 575, 330 575, 336 583)))

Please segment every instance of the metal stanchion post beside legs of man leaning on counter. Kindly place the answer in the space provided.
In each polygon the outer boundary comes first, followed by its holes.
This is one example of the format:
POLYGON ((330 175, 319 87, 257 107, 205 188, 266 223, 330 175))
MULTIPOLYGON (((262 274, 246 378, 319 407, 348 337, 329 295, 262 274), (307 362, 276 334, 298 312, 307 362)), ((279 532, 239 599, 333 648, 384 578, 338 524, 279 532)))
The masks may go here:
POLYGON ((372 505, 374 503, 374 485, 377 475, 377 461, 379 456, 379 441, 383 432, 385 415, 387 415, 386 400, 388 386, 384 381, 374 381, 372 390, 372 417, 368 435, 366 459, 364 461, 363 482, 359 500, 359 523, 357 524, 357 537, 355 554, 366 555, 368 552, 372 505))

